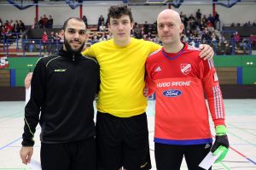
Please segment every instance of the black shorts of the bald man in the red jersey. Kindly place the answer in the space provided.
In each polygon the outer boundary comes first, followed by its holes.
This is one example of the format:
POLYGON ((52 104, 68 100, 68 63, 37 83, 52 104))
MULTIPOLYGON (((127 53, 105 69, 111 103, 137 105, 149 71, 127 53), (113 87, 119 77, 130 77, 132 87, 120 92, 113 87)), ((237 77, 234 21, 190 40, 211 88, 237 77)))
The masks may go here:
POLYGON ((203 170, 198 165, 207 156, 211 147, 212 144, 173 145, 154 143, 156 167, 158 170, 179 170, 184 156, 189 170, 203 170))

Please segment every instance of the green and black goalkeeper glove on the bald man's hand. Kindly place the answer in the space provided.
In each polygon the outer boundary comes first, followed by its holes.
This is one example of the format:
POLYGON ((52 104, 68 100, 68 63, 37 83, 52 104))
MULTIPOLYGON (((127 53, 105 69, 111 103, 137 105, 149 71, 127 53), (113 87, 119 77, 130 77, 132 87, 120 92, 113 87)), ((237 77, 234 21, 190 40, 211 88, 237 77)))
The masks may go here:
POLYGON ((214 163, 222 161, 229 151, 230 144, 226 131, 227 130, 224 125, 216 127, 216 139, 212 145, 211 151, 214 156, 217 156, 219 152, 221 152, 221 154, 214 163))

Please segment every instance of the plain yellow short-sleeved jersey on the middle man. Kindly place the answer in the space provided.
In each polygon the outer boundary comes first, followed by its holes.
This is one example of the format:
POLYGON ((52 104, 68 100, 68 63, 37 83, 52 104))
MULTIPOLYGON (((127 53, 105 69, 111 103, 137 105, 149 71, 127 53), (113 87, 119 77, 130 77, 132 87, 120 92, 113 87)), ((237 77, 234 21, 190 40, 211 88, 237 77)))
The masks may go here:
POLYGON ((101 85, 96 108, 113 116, 131 117, 146 111, 145 62, 148 54, 161 46, 131 37, 130 43, 119 47, 113 39, 98 42, 82 54, 96 57, 100 65, 101 85))

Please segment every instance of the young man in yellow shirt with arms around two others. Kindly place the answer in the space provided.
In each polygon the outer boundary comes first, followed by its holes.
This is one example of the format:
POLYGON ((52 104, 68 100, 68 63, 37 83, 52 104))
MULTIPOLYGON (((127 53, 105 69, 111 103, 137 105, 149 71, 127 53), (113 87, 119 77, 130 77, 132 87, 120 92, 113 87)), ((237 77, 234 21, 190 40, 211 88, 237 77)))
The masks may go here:
MULTIPOLYGON (((100 65, 101 85, 96 108, 96 148, 99 170, 151 169, 148 144, 147 99, 143 96, 144 64, 148 54, 161 48, 154 42, 131 38, 133 18, 126 6, 112 6, 108 27, 113 39, 83 52, 100 65)), ((201 53, 213 56, 204 46, 201 53)))

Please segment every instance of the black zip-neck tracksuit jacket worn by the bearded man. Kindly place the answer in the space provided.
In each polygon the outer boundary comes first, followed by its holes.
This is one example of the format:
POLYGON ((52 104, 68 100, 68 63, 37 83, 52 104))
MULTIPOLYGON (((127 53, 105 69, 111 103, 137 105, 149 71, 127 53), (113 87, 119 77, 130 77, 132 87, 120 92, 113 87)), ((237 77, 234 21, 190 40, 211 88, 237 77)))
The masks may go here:
POLYGON ((34 144, 38 122, 42 143, 67 143, 95 136, 93 100, 99 75, 96 59, 63 49, 39 59, 33 71, 31 99, 25 107, 22 145, 34 144))

